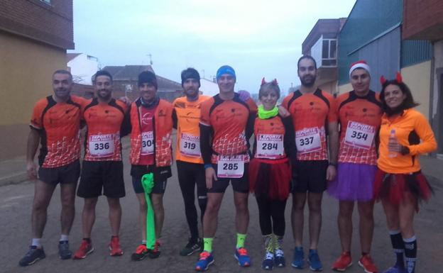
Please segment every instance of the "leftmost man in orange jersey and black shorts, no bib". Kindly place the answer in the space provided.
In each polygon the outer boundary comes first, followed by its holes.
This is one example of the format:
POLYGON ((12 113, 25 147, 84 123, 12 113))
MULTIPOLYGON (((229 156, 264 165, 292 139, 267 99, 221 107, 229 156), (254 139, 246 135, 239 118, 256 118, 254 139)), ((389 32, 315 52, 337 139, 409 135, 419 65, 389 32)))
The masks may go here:
POLYGON ((40 99, 34 106, 31 118, 31 132, 28 136, 26 170, 29 178, 35 181, 32 208, 32 243, 28 253, 20 260, 26 266, 45 258, 40 244, 43 236, 48 206, 55 186, 60 183, 62 235, 58 245, 62 260, 69 259, 68 235, 75 216, 75 189, 80 176, 80 112, 84 99, 71 96, 72 75, 66 70, 57 70, 53 74, 52 96, 40 99), (38 156, 38 169, 34 163, 38 144, 41 143, 38 156))

